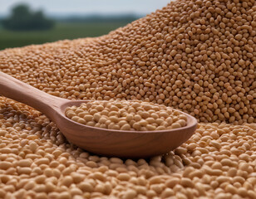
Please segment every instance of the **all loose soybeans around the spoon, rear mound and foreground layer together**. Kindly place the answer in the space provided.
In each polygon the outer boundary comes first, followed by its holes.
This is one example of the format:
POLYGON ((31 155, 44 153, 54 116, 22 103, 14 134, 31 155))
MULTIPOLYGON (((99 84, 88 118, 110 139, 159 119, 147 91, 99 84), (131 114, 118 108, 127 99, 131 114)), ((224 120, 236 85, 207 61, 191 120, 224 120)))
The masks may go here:
POLYGON ((0 197, 256 198, 255 66, 254 0, 170 2, 106 36, 1 51, 0 70, 49 94, 140 99, 204 124, 163 157, 106 158, 0 97, 0 197))

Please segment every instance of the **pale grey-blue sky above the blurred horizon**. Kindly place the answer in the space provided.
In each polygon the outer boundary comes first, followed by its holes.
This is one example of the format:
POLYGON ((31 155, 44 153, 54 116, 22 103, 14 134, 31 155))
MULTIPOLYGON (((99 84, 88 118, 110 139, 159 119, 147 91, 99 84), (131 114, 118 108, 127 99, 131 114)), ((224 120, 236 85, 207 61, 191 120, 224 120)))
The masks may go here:
POLYGON ((43 9, 47 15, 87 14, 149 14, 167 5, 170 0, 0 0, 0 15, 6 16, 17 3, 24 2, 33 9, 43 9))

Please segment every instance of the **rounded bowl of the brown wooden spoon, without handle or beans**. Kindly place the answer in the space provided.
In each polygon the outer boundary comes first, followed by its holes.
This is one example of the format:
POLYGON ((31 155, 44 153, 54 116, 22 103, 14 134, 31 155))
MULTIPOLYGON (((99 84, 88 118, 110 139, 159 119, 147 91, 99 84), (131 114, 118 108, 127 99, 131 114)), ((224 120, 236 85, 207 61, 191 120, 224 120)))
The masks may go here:
MULTIPOLYGON (((57 117, 57 126, 71 143, 86 150, 106 156, 145 158, 168 153, 188 140, 196 129, 197 121, 189 114, 187 126, 160 131, 131 131, 101 129, 79 124, 65 116, 65 109, 86 101, 63 104, 57 117), (62 118, 62 117, 65 117, 62 118)), ((181 112, 181 111, 180 111, 181 112)))

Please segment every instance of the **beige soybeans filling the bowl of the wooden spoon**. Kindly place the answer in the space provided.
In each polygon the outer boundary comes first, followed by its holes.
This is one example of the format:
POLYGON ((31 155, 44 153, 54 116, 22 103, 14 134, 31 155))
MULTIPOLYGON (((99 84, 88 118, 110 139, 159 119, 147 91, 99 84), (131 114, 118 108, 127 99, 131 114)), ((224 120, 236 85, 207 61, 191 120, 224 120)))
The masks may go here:
POLYGON ((66 116, 81 124, 116 130, 177 129, 187 123, 187 116, 179 111, 140 100, 95 100, 68 107, 66 116))

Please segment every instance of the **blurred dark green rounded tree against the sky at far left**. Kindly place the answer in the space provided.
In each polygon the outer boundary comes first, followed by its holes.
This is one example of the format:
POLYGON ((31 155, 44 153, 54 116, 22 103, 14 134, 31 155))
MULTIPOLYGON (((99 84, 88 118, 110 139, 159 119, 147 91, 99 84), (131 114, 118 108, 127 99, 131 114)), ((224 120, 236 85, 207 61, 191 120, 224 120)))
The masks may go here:
POLYGON ((26 4, 12 8, 12 15, 2 20, 2 27, 12 31, 48 30, 54 21, 47 19, 42 11, 32 12, 26 4))

